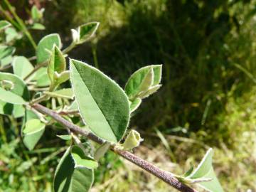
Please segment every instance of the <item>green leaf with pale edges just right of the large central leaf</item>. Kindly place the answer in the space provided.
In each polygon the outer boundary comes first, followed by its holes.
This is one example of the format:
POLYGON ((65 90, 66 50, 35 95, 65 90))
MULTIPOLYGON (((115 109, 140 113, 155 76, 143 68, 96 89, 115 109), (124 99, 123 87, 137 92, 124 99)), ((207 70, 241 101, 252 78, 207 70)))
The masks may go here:
POLYGON ((124 88, 130 100, 134 100, 139 93, 146 92, 150 87, 159 84, 161 81, 161 66, 149 65, 140 68, 131 75, 124 88))

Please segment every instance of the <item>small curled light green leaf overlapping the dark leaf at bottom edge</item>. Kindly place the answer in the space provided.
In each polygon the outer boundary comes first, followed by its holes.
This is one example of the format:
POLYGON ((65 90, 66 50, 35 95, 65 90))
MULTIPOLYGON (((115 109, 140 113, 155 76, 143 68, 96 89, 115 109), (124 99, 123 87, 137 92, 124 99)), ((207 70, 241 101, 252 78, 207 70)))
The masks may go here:
POLYGON ((95 169, 98 166, 97 161, 86 156, 79 146, 71 148, 71 156, 75 162, 75 168, 95 169))

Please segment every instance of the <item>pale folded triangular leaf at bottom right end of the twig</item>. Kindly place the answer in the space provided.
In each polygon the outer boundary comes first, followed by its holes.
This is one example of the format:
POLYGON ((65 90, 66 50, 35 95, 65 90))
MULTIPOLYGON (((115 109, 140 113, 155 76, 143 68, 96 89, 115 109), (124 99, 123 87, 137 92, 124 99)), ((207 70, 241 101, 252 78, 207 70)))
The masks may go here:
POLYGON ((206 155, 203 157, 201 163, 198 165, 195 171, 188 176, 187 178, 191 179, 203 179, 203 178, 211 178, 210 181, 200 182, 199 186, 206 189, 206 191, 210 192, 221 192, 223 188, 220 186, 218 178, 216 177, 213 170, 213 149, 209 149, 206 152, 206 155))

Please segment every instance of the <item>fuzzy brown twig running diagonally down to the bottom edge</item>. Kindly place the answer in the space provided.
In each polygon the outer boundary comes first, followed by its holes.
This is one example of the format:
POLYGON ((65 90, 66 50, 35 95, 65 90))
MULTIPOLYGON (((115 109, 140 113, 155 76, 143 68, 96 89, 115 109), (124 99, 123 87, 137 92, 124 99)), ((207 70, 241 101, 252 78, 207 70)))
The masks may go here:
MULTIPOLYGON (((33 107, 35 110, 38 110, 38 112, 53 117, 55 121, 59 122, 60 124, 63 124, 64 127, 68 127, 68 129, 70 129, 72 132, 77 132, 78 134, 81 134, 82 136, 87 137, 88 139, 91 139, 92 141, 98 144, 103 144, 105 142, 104 140, 97 137, 95 134, 92 134, 91 132, 87 132, 84 129, 81 129, 77 125, 69 122, 66 119, 63 119, 63 117, 61 117, 58 113, 53 112, 52 110, 49 110, 48 108, 43 107, 42 105, 34 104, 31 107, 33 107)), ((159 169, 157 166, 154 166, 154 164, 151 164, 148 161, 139 158, 139 156, 136 156, 130 153, 129 151, 123 151, 121 149, 114 148, 112 148, 112 151, 124 157, 124 159, 131 161, 133 164, 139 166, 145 171, 148 171, 150 174, 153 174, 154 176, 160 178, 162 181, 165 181, 170 186, 176 188, 178 191, 196 192, 195 189, 187 186, 184 183, 181 183, 181 181, 178 181, 178 179, 173 174, 162 169, 159 169)))

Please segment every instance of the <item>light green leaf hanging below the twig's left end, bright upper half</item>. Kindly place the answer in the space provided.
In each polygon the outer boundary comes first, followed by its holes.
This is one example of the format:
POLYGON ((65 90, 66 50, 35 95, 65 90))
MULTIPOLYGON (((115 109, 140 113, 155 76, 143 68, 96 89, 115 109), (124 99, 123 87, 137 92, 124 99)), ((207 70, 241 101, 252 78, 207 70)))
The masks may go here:
POLYGON ((42 137, 46 125, 39 119, 30 119, 23 129, 23 143, 31 151, 42 137))

